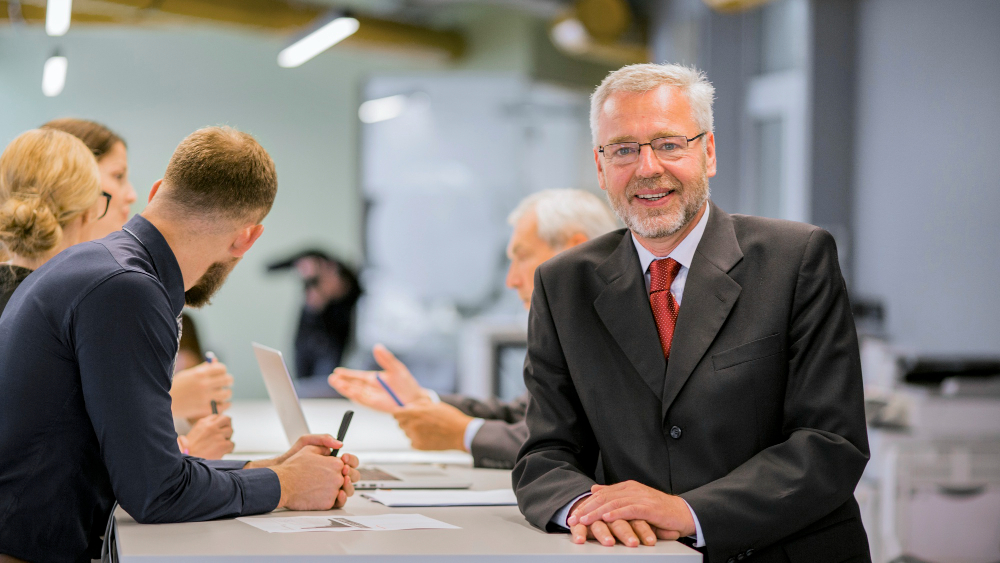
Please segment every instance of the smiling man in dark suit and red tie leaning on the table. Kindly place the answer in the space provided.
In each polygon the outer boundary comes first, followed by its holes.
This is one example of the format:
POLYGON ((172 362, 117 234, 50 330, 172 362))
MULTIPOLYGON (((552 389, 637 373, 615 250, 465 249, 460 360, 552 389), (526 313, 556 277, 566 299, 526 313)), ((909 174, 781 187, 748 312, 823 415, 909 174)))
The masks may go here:
POLYGON ((870 561, 836 246, 709 201, 713 94, 676 65, 625 67, 594 93, 598 175, 628 229, 538 268, 519 506, 578 543, 680 537, 711 563, 870 561))

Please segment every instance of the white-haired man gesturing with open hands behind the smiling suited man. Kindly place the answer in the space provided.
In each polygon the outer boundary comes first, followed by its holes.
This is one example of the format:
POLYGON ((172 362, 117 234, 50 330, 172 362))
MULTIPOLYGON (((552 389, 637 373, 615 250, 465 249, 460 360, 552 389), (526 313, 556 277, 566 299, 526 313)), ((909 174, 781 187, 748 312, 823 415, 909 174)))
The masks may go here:
MULTIPOLYGON (((507 287, 528 308, 535 269, 556 254, 618 228, 599 197, 581 190, 545 190, 525 198, 507 218, 514 228, 507 246, 507 287)), ((381 344, 373 353, 378 374, 405 405, 400 407, 376 379, 376 372, 337 368, 329 383, 345 397, 393 413, 418 450, 463 450, 476 467, 511 468, 528 436, 524 413, 528 394, 505 402, 464 395, 439 397, 424 389, 409 369, 381 344)))

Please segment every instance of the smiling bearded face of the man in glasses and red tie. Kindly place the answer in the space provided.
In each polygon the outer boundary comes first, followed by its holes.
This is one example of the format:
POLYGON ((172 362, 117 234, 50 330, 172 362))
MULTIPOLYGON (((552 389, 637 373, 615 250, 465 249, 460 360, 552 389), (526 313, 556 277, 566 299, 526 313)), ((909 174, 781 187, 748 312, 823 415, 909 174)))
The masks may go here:
MULTIPOLYGON (((648 143, 660 137, 692 138, 702 130, 688 97, 675 86, 643 93, 616 92, 608 97, 597 120, 597 139, 611 143, 648 143)), ((715 176, 715 136, 692 142, 683 157, 660 160, 649 146, 637 161, 609 164, 594 149, 601 189, 615 214, 637 237, 665 239, 692 224, 708 199, 708 179, 715 176)))

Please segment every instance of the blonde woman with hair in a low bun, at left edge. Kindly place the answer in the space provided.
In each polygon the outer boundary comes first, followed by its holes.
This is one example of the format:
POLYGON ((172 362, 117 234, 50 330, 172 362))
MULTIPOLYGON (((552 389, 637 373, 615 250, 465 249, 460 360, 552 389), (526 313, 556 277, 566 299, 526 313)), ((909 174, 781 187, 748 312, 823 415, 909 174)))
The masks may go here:
POLYGON ((33 129, 0 155, 0 313, 33 270, 65 248, 93 238, 108 209, 97 161, 82 141, 33 129), (103 196, 103 197, 102 197, 103 196))

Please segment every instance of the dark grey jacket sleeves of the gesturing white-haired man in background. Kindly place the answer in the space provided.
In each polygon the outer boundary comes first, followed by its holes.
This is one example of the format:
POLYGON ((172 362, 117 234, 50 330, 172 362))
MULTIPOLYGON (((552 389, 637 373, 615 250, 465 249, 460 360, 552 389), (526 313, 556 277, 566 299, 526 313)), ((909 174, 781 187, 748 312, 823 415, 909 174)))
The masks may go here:
POLYGON ((525 393, 507 403, 490 399, 479 401, 465 395, 445 395, 441 401, 469 416, 486 420, 472 439, 472 461, 476 467, 510 469, 517 451, 528 437, 524 411, 528 406, 525 393))

